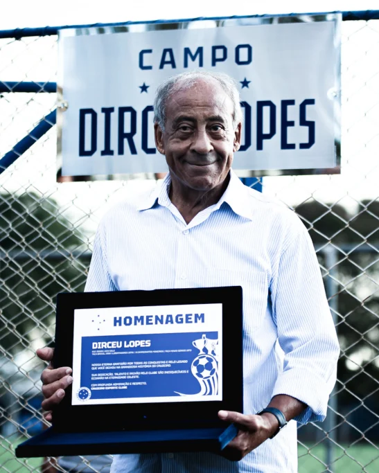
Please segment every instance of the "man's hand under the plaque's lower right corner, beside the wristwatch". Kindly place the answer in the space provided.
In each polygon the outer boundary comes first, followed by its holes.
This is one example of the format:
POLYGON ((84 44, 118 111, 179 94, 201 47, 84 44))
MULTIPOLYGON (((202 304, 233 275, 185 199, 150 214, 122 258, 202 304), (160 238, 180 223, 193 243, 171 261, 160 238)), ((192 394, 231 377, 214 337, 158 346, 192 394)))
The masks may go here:
POLYGON ((222 450, 222 456, 232 461, 240 461, 267 438, 273 436, 279 428, 278 420, 270 413, 254 416, 239 412, 219 411, 218 417, 233 423, 238 428, 236 437, 222 450))

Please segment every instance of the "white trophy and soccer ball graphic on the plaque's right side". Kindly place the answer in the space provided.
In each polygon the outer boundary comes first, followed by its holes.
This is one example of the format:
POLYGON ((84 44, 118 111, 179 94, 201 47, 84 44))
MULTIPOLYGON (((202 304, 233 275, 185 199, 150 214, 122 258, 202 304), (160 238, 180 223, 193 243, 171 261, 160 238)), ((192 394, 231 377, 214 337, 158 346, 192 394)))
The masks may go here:
MULTIPOLYGON (((193 341, 192 344, 199 350, 199 355, 191 364, 191 373, 200 384, 200 392, 195 395, 218 394, 218 340, 207 339, 203 334, 201 339, 193 341)), ((177 391, 175 393, 188 396, 177 391)))

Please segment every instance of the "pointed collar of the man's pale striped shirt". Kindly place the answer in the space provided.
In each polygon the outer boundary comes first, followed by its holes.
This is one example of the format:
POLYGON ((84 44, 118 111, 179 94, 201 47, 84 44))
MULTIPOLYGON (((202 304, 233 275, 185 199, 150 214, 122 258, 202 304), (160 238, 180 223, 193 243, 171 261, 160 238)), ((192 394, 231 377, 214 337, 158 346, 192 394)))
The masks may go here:
MULTIPOLYGON (((161 184, 158 184, 150 195, 142 200, 137 210, 146 211, 155 206, 157 202, 164 207, 170 206, 171 201, 170 197, 168 197, 170 184, 171 177, 170 172, 168 172, 161 184)), ((252 220, 252 204, 249 198, 249 188, 240 181, 232 170, 230 171, 230 180, 227 190, 222 194, 217 204, 213 206, 213 211, 218 210, 224 202, 229 205, 234 213, 252 220)))

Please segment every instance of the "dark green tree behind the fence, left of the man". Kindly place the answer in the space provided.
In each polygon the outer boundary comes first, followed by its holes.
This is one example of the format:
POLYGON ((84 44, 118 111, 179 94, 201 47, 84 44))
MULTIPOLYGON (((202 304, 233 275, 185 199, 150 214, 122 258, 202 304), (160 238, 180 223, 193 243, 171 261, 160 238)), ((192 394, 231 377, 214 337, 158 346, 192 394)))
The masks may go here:
POLYGON ((51 198, 0 194, 0 344, 13 354, 33 339, 50 341, 58 292, 82 290, 85 236, 51 198))

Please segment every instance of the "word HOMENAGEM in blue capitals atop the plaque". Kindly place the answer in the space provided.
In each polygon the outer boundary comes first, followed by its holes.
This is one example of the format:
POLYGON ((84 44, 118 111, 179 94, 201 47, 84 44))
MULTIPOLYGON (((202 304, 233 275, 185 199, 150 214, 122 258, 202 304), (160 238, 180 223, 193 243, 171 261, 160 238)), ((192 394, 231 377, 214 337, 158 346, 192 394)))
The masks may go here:
POLYGON ((135 315, 113 318, 114 327, 122 325, 173 325, 182 323, 204 323, 204 314, 166 314, 166 315, 135 315))

